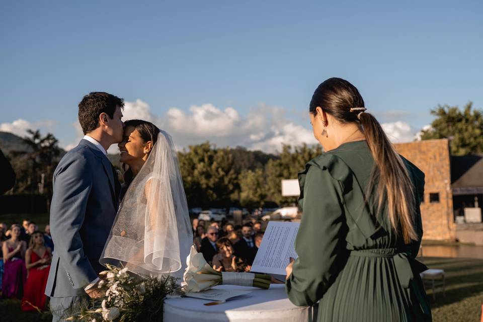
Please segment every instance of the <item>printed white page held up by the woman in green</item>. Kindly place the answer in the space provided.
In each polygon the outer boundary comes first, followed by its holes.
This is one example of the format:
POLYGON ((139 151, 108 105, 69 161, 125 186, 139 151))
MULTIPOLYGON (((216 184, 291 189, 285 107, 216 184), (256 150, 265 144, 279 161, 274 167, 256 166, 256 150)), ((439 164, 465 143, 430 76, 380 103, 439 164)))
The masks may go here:
POLYGON ((298 257, 294 244, 299 226, 299 222, 270 221, 251 271, 285 276, 289 258, 298 257))

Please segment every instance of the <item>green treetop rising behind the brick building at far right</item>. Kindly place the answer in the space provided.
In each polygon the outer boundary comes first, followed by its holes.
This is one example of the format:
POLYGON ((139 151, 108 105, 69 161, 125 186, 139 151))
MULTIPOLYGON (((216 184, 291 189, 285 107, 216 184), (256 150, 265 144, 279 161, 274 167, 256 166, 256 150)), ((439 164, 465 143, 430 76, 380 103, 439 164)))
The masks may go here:
POLYGON ((471 102, 463 111, 458 106, 438 105, 431 114, 436 119, 430 129, 422 131, 422 140, 448 138, 453 155, 483 152, 483 113, 472 109, 471 102))

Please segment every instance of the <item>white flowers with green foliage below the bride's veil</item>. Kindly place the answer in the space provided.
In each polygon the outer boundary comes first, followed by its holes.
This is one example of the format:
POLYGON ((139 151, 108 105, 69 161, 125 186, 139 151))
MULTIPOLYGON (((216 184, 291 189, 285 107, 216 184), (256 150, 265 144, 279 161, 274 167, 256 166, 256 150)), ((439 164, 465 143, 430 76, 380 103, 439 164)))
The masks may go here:
POLYGON ((91 299, 66 320, 82 321, 162 321, 163 303, 168 295, 181 294, 176 278, 141 277, 108 265, 100 274, 99 289, 104 298, 91 299))

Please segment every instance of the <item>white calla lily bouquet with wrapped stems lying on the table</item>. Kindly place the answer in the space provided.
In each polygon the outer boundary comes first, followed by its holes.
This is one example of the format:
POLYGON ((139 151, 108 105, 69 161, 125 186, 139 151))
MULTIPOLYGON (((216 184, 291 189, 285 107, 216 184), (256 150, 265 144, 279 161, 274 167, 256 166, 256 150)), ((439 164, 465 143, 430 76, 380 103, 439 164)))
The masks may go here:
POLYGON ((186 293, 200 292, 220 284, 255 286, 268 289, 272 280, 271 276, 267 274, 215 271, 206 263, 203 254, 198 253, 193 246, 186 264, 188 267, 186 268, 182 285, 182 289, 186 293))

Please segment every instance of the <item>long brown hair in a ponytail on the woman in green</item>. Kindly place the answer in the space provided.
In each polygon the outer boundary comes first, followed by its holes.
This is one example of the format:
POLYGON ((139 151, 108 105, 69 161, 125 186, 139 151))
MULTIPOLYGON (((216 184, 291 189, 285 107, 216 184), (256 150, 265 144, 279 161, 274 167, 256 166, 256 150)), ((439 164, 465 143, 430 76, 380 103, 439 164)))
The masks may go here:
POLYGON ((403 159, 395 151, 381 125, 370 113, 355 113, 364 107, 357 88, 342 78, 329 78, 313 93, 310 112, 322 108, 342 124, 359 123, 374 158, 368 195, 376 188, 378 207, 387 199, 387 212, 392 228, 400 233, 406 244, 417 240, 414 228, 416 213, 413 183, 403 159))

